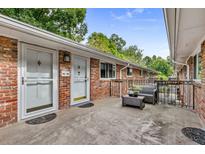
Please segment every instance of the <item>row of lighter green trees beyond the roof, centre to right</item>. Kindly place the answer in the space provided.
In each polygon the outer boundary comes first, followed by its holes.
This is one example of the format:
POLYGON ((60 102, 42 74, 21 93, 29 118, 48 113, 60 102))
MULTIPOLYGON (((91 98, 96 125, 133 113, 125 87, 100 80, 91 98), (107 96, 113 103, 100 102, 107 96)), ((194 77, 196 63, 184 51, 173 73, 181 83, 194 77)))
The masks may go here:
POLYGON ((124 48, 126 42, 117 34, 112 34, 111 37, 108 38, 103 33, 94 32, 88 37, 87 44, 93 48, 100 49, 103 52, 113 54, 118 58, 152 68, 160 72, 158 75, 159 79, 162 78, 167 80, 168 76, 173 73, 169 57, 163 59, 154 55, 152 57, 145 56, 143 58, 143 50, 139 49, 136 45, 124 48))

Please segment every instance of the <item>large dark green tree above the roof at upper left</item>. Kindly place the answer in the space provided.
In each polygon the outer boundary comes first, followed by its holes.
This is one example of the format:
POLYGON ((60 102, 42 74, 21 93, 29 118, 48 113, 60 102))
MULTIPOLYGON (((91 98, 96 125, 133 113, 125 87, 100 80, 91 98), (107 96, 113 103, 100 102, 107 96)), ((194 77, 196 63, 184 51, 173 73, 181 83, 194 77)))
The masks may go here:
POLYGON ((11 8, 0 13, 77 42, 87 33, 86 9, 11 8))

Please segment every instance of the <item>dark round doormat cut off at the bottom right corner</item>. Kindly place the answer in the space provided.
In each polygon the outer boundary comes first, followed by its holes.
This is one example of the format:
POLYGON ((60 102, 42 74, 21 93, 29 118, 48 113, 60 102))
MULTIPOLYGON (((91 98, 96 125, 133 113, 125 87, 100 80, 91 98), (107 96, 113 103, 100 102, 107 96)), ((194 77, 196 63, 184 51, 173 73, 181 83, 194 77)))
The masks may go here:
POLYGON ((205 145, 205 131, 199 128, 185 127, 182 133, 192 141, 205 145))

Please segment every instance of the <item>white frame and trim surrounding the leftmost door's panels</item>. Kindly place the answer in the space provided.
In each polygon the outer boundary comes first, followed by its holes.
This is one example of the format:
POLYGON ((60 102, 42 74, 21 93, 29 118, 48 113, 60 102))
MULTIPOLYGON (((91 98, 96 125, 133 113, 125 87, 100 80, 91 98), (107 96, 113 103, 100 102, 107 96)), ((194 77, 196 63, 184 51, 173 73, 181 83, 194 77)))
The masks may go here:
POLYGON ((51 50, 44 47, 39 47, 35 45, 30 45, 26 43, 19 42, 19 56, 18 56, 18 120, 26 119, 30 117, 35 117, 49 112, 54 112, 58 109, 58 51, 51 50), (38 51, 49 52, 53 54, 53 106, 47 109, 42 109, 40 111, 34 111, 32 113, 25 112, 25 94, 24 85, 22 85, 22 77, 25 76, 25 53, 26 49, 31 48, 38 51))

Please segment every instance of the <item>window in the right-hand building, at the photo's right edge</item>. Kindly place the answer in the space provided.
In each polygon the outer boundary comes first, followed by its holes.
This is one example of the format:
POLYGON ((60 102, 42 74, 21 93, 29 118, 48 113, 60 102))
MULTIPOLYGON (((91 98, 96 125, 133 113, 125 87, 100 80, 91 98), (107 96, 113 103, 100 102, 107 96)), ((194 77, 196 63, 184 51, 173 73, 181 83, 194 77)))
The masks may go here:
POLYGON ((201 79, 201 54, 198 53, 194 56, 194 79, 201 79))

